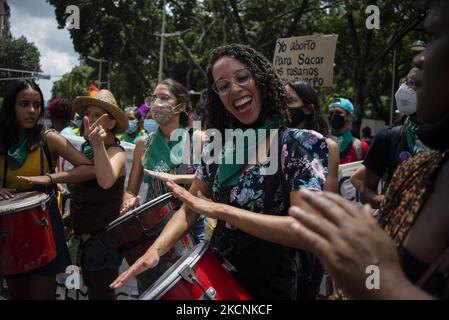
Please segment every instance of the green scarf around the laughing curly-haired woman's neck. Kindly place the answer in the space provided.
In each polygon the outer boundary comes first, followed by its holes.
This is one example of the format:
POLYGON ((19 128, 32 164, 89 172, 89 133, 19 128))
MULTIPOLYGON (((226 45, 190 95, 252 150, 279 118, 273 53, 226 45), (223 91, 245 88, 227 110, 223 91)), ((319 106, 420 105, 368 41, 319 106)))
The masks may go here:
POLYGON ((263 141, 259 140, 258 130, 265 130, 266 136, 270 136, 270 129, 278 129, 281 125, 280 118, 274 118, 271 122, 266 123, 264 126, 257 128, 256 130, 256 144, 248 145, 248 139, 244 139, 244 145, 242 148, 237 148, 235 141, 233 142, 232 148, 223 150, 220 154, 220 164, 218 165, 218 181, 226 186, 235 186, 238 183, 238 178, 240 171, 248 164, 249 159, 257 151, 256 146, 263 141), (236 164, 237 159, 241 159, 243 155, 244 163, 236 164), (232 164, 226 164, 225 159, 232 159, 232 164))

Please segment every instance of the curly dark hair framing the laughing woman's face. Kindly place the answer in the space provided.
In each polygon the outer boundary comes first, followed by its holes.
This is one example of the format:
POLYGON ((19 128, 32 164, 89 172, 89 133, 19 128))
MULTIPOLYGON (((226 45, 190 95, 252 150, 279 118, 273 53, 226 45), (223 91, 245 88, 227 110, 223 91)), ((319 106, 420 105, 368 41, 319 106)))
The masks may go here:
POLYGON ((283 125, 288 125, 289 96, 276 75, 271 63, 259 52, 251 47, 241 44, 229 44, 218 47, 211 53, 209 66, 207 67, 208 92, 205 107, 206 128, 214 128, 224 134, 224 130, 231 128, 231 123, 237 123, 239 127, 245 127, 224 107, 218 94, 212 90, 214 78, 212 69, 215 63, 222 57, 231 57, 246 66, 259 88, 262 95, 262 111, 256 123, 252 126, 263 124, 268 117, 280 116, 283 125))

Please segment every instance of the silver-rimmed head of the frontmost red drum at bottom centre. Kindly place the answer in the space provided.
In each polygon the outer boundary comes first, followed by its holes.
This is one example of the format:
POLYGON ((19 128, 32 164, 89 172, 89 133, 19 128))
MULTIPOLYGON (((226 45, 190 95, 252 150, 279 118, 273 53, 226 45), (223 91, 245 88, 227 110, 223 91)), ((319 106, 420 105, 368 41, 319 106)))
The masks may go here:
POLYGON ((193 268, 208 248, 207 242, 197 244, 190 249, 182 258, 172 265, 164 274, 142 295, 139 300, 157 300, 170 290, 180 279, 181 271, 189 266, 193 268))

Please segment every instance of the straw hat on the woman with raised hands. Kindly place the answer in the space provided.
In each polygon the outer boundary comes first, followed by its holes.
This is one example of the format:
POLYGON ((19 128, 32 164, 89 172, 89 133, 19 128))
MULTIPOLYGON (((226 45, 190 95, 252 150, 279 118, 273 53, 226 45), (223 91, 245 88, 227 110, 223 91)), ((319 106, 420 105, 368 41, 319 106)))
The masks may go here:
POLYGON ((117 121, 115 133, 124 133, 128 129, 126 113, 117 105, 114 95, 109 90, 102 89, 95 97, 76 97, 72 104, 73 110, 82 116, 89 106, 102 108, 112 115, 117 121))

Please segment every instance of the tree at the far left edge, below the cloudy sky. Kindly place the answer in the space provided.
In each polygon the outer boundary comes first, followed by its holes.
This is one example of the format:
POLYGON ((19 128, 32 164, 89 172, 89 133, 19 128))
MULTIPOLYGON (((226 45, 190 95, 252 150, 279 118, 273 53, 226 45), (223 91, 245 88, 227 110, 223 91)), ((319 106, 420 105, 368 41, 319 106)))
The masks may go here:
MULTIPOLYGON (((41 72, 39 50, 23 36, 18 39, 2 37, 0 38, 0 67, 41 72)), ((27 76, 30 74, 0 71, 0 79, 27 76)), ((0 80, 1 95, 6 85, 7 81, 0 80)))

